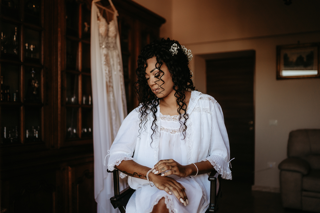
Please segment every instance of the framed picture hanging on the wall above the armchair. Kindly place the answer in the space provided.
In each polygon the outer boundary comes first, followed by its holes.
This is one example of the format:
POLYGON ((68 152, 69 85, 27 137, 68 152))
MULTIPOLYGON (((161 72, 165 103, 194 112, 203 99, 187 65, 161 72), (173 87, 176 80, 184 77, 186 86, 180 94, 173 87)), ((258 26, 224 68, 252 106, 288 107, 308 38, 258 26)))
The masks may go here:
POLYGON ((277 46, 277 79, 319 78, 319 46, 320 43, 277 46))

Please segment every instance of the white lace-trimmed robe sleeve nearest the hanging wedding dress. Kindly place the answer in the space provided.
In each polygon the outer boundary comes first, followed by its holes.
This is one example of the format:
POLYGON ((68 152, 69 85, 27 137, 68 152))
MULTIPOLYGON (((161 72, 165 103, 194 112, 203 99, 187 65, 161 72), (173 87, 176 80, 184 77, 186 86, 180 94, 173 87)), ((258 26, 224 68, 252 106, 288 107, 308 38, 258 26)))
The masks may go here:
MULTIPOLYGON (((108 160, 108 170, 113 171, 115 165, 118 166, 123 160, 134 160, 132 158, 139 136, 139 112, 138 109, 132 110, 122 122, 117 133, 116 139, 110 148, 110 157, 108 160)), ((120 177, 124 178, 125 174, 120 173, 120 177)))

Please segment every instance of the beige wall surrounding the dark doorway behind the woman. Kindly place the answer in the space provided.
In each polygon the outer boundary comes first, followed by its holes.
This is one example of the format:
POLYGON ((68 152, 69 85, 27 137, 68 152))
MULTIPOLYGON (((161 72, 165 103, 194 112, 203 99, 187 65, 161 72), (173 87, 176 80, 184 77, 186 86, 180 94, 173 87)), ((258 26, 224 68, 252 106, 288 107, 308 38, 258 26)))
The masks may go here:
MULTIPOLYGON (((153 9, 144 6, 160 14, 162 1, 151 2, 153 9)), ((320 1, 294 0, 286 6, 281 0, 172 0, 171 8, 172 38, 191 49, 190 66, 199 91, 206 91, 200 55, 256 51, 255 185, 278 188, 277 165, 286 158, 289 132, 320 128, 320 79, 276 80, 276 45, 320 42, 320 1), (270 119, 278 125, 269 126, 270 119), (260 171, 269 161, 276 162, 276 168, 260 171)))

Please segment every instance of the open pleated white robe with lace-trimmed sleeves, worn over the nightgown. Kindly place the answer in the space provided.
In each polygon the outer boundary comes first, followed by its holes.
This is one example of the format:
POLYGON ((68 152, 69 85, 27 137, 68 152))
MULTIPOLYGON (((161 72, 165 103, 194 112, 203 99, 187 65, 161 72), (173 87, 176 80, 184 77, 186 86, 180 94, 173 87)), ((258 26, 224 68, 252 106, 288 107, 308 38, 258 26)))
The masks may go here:
MULTIPOLYGON (((210 95, 192 91, 187 113, 187 131, 185 148, 187 164, 200 161, 209 161, 224 179, 232 179, 229 169, 230 148, 228 134, 224 125, 222 110, 217 101, 210 95)), ((160 127, 161 120, 157 119, 158 129, 151 140, 151 125, 153 118, 149 119, 140 130, 140 113, 135 109, 124 119, 114 143, 110 148, 108 169, 114 170, 122 160, 135 162, 152 168, 159 161, 160 127), (139 133, 140 132, 140 133, 139 133), (134 151, 134 158, 132 154, 134 151)), ((160 118, 158 106, 156 117, 160 118)), ((122 174, 122 177, 125 175, 122 174)), ((209 173, 191 176, 202 189, 204 202, 197 212, 203 213, 209 206, 210 182, 209 173)), ((157 192, 155 187, 150 187, 147 180, 128 177, 128 184, 136 192, 127 204, 127 213, 148 212, 149 203, 157 199, 152 197, 157 192)), ((168 198, 169 199, 169 198, 168 198)))

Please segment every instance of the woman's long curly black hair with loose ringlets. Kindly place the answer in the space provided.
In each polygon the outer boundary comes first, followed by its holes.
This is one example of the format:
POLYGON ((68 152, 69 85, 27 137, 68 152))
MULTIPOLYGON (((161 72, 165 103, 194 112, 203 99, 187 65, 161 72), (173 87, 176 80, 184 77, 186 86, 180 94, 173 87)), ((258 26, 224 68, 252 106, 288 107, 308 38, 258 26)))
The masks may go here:
MULTIPOLYGON (((161 70, 161 66, 163 64, 167 66, 169 72, 172 75, 172 82, 174 83, 173 89, 175 90, 174 96, 177 98, 177 104, 179 106, 177 109, 179 113, 179 122, 183 130, 183 135, 184 137, 186 137, 186 122, 189 116, 186 113, 187 104, 185 100, 185 90, 195 90, 195 87, 191 79, 192 75, 190 74, 187 55, 183 52, 179 42, 176 40, 170 40, 170 38, 162 38, 161 40, 155 40, 154 42, 147 44, 141 50, 141 54, 138 57, 138 68, 136 69, 138 80, 135 83, 135 87, 139 103, 141 103, 141 107, 139 109, 141 118, 141 122, 139 125, 140 131, 142 129, 142 124, 146 124, 149 113, 152 113, 153 117, 153 122, 151 125, 151 140, 157 128, 156 112, 157 106, 160 103, 160 99, 157 98, 157 96, 152 92, 145 77, 146 68, 148 66, 147 60, 152 57, 156 57, 156 67, 160 72, 162 72, 162 75, 164 74, 164 72, 161 70), (172 54, 172 52, 170 51, 172 44, 174 43, 176 43, 179 47, 179 49, 177 49, 177 54, 172 54)), ((162 82, 162 84, 164 83, 164 81, 161 79, 162 75, 160 74, 160 76, 157 77, 158 80, 156 82, 162 82)), ((157 84, 160 86, 160 88, 162 88, 162 84, 157 84)))

